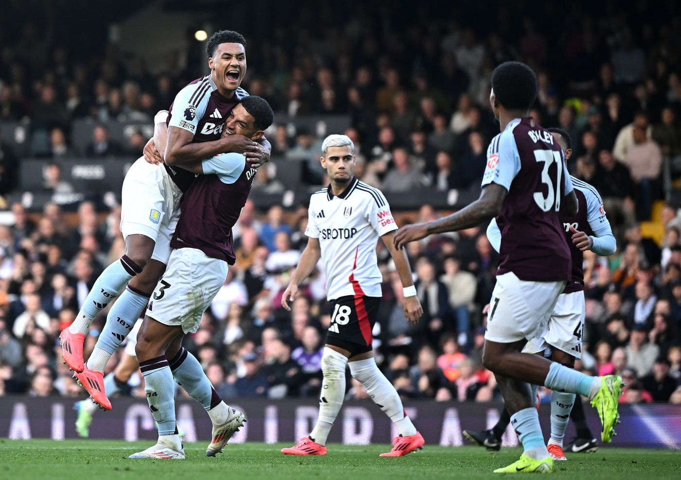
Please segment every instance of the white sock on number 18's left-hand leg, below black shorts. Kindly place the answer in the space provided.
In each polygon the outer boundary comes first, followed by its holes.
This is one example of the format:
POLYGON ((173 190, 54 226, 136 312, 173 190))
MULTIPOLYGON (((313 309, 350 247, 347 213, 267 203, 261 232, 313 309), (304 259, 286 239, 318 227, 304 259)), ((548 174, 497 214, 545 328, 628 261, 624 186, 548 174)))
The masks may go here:
POLYGON ((319 445, 326 445, 331 427, 345 398, 345 368, 347 357, 329 347, 324 347, 321 357, 321 394, 319 395, 319 417, 310 432, 310 438, 319 445))

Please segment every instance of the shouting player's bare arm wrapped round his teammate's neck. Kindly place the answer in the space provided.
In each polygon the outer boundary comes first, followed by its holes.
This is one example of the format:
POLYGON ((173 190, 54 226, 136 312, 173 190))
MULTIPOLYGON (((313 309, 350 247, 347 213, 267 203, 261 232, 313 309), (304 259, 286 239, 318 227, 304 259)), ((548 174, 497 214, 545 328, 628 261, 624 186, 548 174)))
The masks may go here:
POLYGON ((194 135, 178 126, 168 127, 165 163, 171 167, 186 167, 221 153, 244 153, 257 150, 257 143, 243 135, 227 135, 215 141, 191 143, 194 135))

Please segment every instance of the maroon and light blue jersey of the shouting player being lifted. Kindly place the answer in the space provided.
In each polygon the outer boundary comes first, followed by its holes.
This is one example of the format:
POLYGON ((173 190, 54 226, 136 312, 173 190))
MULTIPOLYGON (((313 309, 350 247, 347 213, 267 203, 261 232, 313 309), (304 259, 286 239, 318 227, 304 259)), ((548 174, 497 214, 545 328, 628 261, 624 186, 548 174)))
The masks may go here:
MULTIPOLYGON (((218 140, 229 112, 232 112, 240 99, 248 95, 246 90, 239 87, 231 99, 223 97, 208 73, 178 92, 170 105, 168 126, 184 128, 191 132, 194 135, 192 143, 218 140)), ((165 165, 165 169, 180 190, 187 192, 195 175, 188 170, 168 165, 165 165)))

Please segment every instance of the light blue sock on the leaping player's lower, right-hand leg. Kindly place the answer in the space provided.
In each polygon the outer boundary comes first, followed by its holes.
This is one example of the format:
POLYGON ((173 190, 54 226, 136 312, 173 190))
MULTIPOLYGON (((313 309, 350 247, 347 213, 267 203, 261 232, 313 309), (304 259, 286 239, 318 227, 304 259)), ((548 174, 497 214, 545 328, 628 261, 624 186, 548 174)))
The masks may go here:
POLYGON ((106 315, 106 324, 97 339, 97 347, 113 354, 135 326, 148 303, 148 296, 142 295, 142 292, 133 292, 130 287, 126 288, 106 315))

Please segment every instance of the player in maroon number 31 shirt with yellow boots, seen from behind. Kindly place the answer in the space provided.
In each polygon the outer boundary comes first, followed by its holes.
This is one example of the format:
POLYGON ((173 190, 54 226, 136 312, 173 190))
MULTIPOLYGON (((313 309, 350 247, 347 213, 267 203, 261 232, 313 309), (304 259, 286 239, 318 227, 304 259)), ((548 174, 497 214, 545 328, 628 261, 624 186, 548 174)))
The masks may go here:
POLYGON ((577 196, 558 141, 528 116, 537 97, 537 77, 520 62, 492 73, 490 103, 501 133, 487 150, 480 198, 450 216, 400 228, 395 244, 432 233, 470 228, 496 217, 501 230, 496 286, 490 300, 483 363, 498 381, 511 424, 524 453, 495 473, 552 472, 530 384, 588 396, 603 423, 601 439, 612 441, 622 379, 590 377, 558 362, 522 353, 545 330, 571 278, 571 255, 560 220, 578 211, 577 196))

